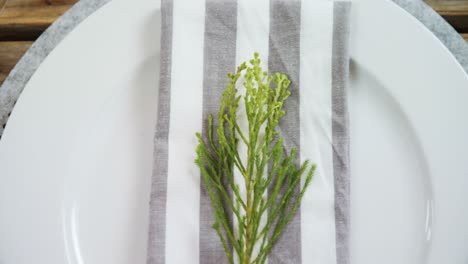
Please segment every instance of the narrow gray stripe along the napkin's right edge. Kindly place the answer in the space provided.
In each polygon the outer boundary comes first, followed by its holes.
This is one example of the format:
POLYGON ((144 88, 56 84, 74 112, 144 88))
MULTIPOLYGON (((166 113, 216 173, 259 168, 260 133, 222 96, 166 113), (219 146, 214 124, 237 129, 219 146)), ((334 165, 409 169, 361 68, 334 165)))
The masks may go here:
POLYGON ((349 2, 335 2, 332 52, 332 144, 337 264, 349 263, 349 2))

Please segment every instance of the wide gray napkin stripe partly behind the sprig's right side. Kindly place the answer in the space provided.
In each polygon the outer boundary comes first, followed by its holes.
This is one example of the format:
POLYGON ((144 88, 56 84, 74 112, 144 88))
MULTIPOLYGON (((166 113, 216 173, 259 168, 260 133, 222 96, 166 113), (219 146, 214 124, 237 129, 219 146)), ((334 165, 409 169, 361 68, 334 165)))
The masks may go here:
MULTIPOLYGON (((285 147, 300 152, 299 132, 299 72, 300 72, 300 1, 270 1, 270 43, 268 69, 271 73, 281 72, 291 80, 291 96, 284 106, 286 115, 279 124, 285 147)), ((297 161, 300 161, 298 155, 297 161)), ((299 187, 299 186, 298 186, 299 187)), ((297 189, 299 191, 299 188, 297 189)), ((301 256, 301 212, 291 220, 268 258, 269 264, 302 263, 301 256)))

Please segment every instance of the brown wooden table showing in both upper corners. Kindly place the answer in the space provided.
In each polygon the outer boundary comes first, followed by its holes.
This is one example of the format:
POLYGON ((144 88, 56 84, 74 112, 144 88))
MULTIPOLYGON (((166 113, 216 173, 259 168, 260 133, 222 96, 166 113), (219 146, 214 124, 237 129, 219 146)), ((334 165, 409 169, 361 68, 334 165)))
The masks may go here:
MULTIPOLYGON (((468 0, 425 1, 468 41, 468 0)), ((32 42, 75 2, 7 0, 0 11, 0 84, 32 42)))

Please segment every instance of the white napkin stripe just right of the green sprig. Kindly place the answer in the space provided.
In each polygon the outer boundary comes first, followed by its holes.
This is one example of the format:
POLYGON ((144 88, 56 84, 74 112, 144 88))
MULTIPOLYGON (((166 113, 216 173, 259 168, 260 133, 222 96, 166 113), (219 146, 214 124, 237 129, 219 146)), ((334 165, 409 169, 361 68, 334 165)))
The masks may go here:
POLYGON ((318 166, 301 204, 302 262, 334 264, 333 2, 303 1, 301 12, 301 159, 309 159, 318 166))

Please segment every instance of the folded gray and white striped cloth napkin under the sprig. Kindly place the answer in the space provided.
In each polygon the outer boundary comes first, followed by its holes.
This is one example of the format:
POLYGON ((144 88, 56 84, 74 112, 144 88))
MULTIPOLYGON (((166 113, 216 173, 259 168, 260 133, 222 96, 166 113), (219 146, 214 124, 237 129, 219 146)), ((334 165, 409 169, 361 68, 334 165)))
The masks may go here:
POLYGON ((255 51, 264 69, 291 80, 279 128, 286 147, 318 166, 268 263, 349 263, 349 10, 328 0, 162 0, 148 264, 228 263, 194 134, 218 111, 226 74, 255 51))

